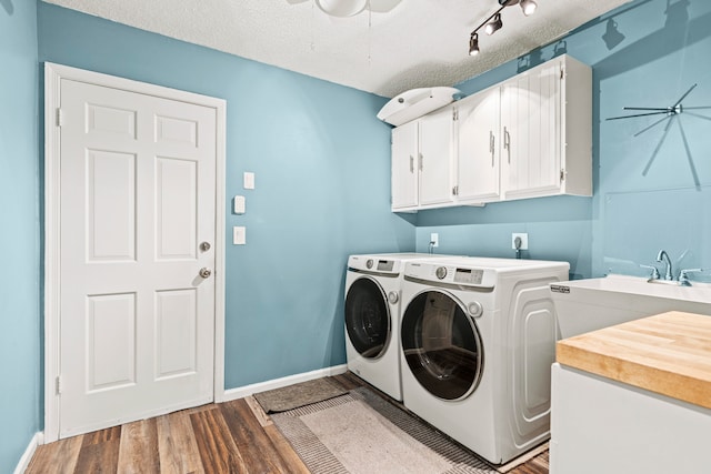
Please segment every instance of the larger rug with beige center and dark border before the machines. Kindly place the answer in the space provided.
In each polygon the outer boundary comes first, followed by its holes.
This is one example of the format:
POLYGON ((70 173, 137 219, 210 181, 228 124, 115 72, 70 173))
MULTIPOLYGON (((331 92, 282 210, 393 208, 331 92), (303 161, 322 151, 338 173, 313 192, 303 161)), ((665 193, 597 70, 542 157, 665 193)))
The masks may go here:
POLYGON ((271 420, 314 474, 498 473, 367 387, 271 420))

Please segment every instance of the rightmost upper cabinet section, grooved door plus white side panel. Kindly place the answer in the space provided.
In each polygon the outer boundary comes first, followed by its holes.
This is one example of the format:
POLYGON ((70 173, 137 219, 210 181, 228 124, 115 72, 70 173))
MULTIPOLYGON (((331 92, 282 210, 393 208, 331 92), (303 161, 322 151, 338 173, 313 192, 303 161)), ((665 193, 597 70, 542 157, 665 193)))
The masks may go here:
POLYGON ((501 85, 503 200, 592 195, 592 71, 555 58, 501 85))

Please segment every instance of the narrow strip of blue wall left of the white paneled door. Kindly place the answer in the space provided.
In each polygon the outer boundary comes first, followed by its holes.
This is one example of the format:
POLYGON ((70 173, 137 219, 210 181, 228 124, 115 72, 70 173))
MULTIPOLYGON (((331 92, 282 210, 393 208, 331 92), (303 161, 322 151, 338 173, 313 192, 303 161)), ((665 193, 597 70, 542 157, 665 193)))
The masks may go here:
POLYGON ((37 8, 0 0, 0 472, 40 431, 37 8))

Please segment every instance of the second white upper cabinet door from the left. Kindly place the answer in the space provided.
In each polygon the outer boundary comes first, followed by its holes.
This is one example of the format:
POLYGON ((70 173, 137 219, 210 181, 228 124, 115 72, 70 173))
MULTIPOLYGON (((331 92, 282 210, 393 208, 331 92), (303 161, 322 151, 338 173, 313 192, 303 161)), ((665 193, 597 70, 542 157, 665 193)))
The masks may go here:
POLYGON ((452 110, 420 119, 420 205, 452 201, 452 110))

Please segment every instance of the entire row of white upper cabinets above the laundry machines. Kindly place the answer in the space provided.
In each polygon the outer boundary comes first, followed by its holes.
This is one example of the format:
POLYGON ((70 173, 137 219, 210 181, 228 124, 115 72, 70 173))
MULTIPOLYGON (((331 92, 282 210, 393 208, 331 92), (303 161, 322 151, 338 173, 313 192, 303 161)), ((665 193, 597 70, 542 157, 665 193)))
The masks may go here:
POLYGON ((561 56, 392 131, 392 210, 592 195, 592 71, 561 56))

